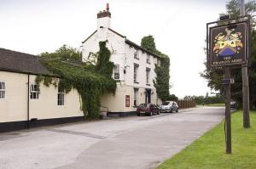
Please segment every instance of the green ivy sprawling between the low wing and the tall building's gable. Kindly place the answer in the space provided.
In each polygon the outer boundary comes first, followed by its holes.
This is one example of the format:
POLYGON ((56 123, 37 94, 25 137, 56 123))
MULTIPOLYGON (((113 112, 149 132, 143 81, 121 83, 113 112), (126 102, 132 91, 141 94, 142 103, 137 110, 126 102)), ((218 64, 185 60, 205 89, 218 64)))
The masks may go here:
MULTIPOLYGON (((58 87, 69 93, 73 88, 76 89, 82 99, 82 110, 87 119, 97 119, 100 115, 101 96, 103 93, 115 93, 116 82, 113 80, 113 63, 109 61, 110 51, 106 47, 106 42, 99 42, 100 51, 97 53, 96 65, 77 65, 63 61, 67 59, 65 54, 47 54, 41 62, 45 65, 52 75, 60 76, 58 87), (58 59, 51 59, 51 55, 58 55, 58 59), (47 59, 45 59, 45 57, 47 59)), ((67 52, 67 50, 64 50, 67 52)), ((55 51, 55 53, 58 52, 55 51)), ((73 54, 74 55, 74 54, 73 54)), ((56 78, 49 76, 38 76, 36 82, 39 84, 44 81, 44 85, 49 87, 55 84, 56 78)))

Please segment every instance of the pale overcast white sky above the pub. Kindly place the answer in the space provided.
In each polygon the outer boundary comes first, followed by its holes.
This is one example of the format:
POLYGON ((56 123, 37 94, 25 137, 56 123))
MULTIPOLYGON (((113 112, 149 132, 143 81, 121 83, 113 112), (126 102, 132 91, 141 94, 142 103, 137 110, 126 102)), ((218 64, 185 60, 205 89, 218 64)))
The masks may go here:
POLYGON ((171 59, 171 93, 211 92, 199 73, 206 59, 206 23, 225 11, 226 0, 0 0, 0 48, 40 54, 62 44, 79 48, 96 30, 96 14, 110 4, 112 29, 140 44, 153 35, 171 59))

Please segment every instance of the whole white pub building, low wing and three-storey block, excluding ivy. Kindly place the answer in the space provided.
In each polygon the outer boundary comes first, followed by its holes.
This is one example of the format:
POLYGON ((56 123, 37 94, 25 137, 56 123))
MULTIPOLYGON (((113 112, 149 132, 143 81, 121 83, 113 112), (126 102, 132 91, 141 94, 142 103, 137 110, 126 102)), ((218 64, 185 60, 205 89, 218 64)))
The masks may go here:
MULTIPOLYGON (((107 7, 97 14, 96 31, 83 42, 83 61, 93 60, 91 53, 99 50, 100 41, 108 41, 112 52, 118 87, 115 95, 102 96, 102 107, 108 108, 108 115, 129 115, 138 104, 160 104, 153 84, 159 57, 113 31, 110 19, 107 7)), ((53 85, 38 87, 36 77, 50 74, 38 56, 0 48, 0 59, 0 132, 84 120, 76 89, 62 93, 53 85)))

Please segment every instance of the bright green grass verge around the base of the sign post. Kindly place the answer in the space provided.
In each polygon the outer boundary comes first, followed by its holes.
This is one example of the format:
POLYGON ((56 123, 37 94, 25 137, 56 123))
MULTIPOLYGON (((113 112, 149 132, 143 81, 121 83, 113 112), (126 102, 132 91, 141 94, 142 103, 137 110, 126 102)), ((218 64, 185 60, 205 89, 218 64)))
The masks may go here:
POLYGON ((256 168, 256 112, 252 111, 250 117, 251 128, 244 129, 241 111, 232 115, 231 155, 225 154, 224 121, 222 121, 157 168, 256 168))

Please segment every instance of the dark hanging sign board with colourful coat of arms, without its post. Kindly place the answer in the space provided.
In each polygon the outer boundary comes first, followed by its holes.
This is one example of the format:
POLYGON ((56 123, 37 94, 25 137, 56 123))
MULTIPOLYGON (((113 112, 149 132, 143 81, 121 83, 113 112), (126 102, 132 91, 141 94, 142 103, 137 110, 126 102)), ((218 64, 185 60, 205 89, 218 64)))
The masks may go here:
POLYGON ((247 65, 248 21, 209 28, 207 24, 207 31, 207 63, 210 67, 247 65))

